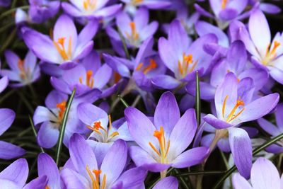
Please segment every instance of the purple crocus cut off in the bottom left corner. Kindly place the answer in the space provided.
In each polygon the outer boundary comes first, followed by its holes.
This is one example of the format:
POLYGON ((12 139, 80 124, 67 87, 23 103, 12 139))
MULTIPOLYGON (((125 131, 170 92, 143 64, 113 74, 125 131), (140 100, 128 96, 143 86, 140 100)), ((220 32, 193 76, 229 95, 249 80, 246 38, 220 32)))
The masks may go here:
POLYGON ((1 188, 4 189, 42 189, 47 184, 47 177, 41 176, 25 185, 28 179, 28 162, 18 159, 0 173, 1 188))

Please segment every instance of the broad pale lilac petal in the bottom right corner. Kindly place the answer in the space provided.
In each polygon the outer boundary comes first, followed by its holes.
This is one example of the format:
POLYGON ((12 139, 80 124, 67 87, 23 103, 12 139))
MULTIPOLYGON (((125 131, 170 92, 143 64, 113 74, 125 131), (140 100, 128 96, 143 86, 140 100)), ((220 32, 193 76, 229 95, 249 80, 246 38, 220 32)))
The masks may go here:
POLYGON ((280 188, 280 177, 275 165, 265 158, 259 158, 253 164, 250 181, 253 188, 280 188))

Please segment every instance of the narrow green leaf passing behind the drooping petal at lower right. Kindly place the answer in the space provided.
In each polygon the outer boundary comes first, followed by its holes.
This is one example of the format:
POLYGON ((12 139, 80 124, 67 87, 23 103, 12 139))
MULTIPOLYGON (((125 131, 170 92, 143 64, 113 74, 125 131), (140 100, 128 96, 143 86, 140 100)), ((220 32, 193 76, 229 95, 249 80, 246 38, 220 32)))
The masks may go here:
MULTIPOLYGON (((260 153, 260 151, 262 151, 263 149, 265 149, 266 147, 269 147, 271 144, 274 144, 275 142, 279 141, 280 139, 283 139, 283 133, 277 135, 277 137, 274 137, 272 139, 270 139, 269 141, 263 143, 262 145, 260 145, 260 147, 257 147, 256 149, 253 150, 253 156, 255 156, 256 154, 260 153)), ((231 167, 228 171, 226 171, 226 173, 224 174, 224 176, 222 176, 219 181, 216 183, 216 185, 214 185, 213 189, 219 188, 221 186, 221 184, 226 180, 226 178, 228 178, 231 173, 233 173, 233 171, 236 171, 236 166, 231 167)))

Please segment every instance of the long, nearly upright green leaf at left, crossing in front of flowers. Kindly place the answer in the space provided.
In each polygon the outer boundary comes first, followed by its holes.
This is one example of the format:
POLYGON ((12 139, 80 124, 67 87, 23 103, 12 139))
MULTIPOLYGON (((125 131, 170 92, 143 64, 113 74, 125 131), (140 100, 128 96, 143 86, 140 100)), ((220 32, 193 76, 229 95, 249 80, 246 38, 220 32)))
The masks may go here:
POLYGON ((76 88, 74 88, 73 92, 71 93, 71 96, 69 98, 69 101, 67 103, 67 108, 64 112, 64 116, 63 116, 63 120, 62 120, 62 125, 61 125, 61 130, 60 130, 60 134, 59 134, 59 139, 57 142, 57 150, 56 150, 56 164, 57 166, 59 165, 59 160, 60 160, 60 154, 62 151, 62 146, 63 146, 63 139, 64 139, 64 132, 65 132, 65 128, 67 125, 67 120, 68 120, 68 115, 69 115, 69 111, 71 108, 71 103, 74 99, 76 93, 76 88))

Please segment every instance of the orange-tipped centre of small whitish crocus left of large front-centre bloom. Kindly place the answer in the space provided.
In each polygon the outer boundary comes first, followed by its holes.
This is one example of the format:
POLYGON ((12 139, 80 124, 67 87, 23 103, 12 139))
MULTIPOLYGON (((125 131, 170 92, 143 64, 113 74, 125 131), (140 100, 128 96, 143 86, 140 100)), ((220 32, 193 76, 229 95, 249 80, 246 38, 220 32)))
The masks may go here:
POLYGON ((112 122, 111 122, 110 115, 108 115, 108 119, 109 119, 109 125, 108 125, 107 130, 105 130, 105 128, 101 126, 101 122, 100 121, 94 122, 92 126, 91 125, 87 125, 86 126, 86 127, 88 127, 88 129, 90 129, 93 132, 96 132, 97 134, 99 134, 103 138, 102 142, 110 142, 110 140, 112 138, 114 138, 117 135, 119 135, 119 132, 117 132, 117 131, 112 132, 111 134, 109 133, 110 130, 112 129, 112 122))

